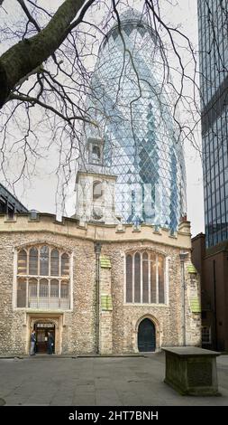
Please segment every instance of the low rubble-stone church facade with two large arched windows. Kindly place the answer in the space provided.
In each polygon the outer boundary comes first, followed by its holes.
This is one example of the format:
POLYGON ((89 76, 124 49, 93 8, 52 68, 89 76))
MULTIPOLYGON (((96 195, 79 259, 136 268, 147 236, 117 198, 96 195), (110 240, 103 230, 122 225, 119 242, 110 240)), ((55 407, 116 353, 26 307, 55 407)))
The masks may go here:
POLYGON ((0 215, 0 354, 127 354, 200 345, 189 222, 178 231, 0 215), (186 260, 180 260, 181 252, 186 260))

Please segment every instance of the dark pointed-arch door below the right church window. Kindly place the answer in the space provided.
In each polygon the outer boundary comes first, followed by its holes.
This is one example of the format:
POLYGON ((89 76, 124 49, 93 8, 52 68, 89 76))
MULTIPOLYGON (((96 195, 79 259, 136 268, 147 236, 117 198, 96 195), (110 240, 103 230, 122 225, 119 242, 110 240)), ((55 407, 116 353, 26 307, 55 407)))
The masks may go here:
POLYGON ((138 348, 139 351, 155 351, 156 334, 155 326, 149 318, 141 320, 138 329, 138 348))

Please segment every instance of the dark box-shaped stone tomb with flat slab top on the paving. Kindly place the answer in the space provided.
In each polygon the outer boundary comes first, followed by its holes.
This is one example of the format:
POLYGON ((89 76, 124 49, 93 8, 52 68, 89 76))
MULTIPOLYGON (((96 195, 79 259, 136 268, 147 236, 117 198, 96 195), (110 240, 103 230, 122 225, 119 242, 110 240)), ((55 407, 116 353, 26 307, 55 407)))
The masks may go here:
POLYGON ((165 381, 182 395, 220 395, 215 351, 194 346, 164 347, 165 381))

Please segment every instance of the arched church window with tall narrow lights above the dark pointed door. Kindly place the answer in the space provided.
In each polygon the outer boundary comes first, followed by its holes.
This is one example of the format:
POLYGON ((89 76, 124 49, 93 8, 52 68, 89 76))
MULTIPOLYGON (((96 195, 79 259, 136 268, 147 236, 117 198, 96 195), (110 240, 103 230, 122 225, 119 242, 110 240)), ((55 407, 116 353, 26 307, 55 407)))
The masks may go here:
POLYGON ((165 304, 165 264, 165 256, 155 251, 127 254, 125 302, 165 304))

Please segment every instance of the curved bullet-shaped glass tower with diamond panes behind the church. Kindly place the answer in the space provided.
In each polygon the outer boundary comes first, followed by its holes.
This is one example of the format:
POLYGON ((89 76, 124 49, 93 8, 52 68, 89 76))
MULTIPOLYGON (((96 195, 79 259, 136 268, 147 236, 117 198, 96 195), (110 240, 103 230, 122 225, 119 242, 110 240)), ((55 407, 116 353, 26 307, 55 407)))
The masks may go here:
MULTIPOLYGON (((121 28, 115 24, 100 46, 89 111, 105 139, 105 165, 117 176, 123 222, 175 231, 186 212, 186 176, 160 42, 137 11, 120 19, 121 28)), ((88 129, 87 137, 94 136, 88 129)))

